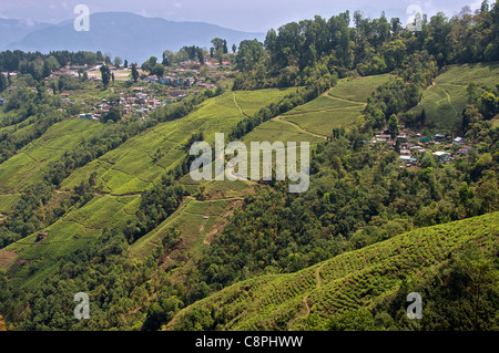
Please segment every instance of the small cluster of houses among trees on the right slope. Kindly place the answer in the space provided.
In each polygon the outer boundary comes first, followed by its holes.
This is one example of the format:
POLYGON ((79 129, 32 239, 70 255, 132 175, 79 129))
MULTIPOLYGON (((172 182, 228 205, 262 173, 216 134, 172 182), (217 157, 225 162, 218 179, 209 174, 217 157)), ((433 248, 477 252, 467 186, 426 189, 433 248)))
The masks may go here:
POLYGON ((435 134, 430 137, 419 133, 414 134, 408 129, 403 129, 395 137, 385 129, 384 133, 375 135, 370 143, 386 144, 388 148, 398 150, 403 167, 417 165, 417 157, 426 154, 428 149, 435 159, 441 163, 454 160, 454 155, 467 155, 473 149, 462 137, 452 139, 451 136, 444 134, 435 134))

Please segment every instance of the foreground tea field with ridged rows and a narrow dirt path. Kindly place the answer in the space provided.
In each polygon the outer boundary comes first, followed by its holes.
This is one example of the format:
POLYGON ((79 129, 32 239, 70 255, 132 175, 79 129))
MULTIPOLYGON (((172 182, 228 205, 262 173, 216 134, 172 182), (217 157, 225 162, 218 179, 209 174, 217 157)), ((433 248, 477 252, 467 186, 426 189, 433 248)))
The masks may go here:
POLYGON ((417 229, 347 252, 296 273, 272 274, 236 283, 182 310, 183 319, 224 310, 223 330, 322 330, 335 313, 369 308, 395 291, 407 274, 437 266, 470 242, 497 253, 499 212, 417 229))

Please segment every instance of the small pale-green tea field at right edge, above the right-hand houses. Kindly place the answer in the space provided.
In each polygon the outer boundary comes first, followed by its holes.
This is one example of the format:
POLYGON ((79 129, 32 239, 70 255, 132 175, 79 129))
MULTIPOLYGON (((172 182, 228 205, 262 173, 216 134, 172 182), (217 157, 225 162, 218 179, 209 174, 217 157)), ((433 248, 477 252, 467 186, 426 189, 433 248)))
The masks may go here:
POLYGON ((421 103, 411 112, 420 114, 425 108, 427 124, 451 133, 461 125, 462 110, 468 102, 466 87, 471 82, 495 86, 499 82, 499 63, 449 66, 425 91, 421 103))

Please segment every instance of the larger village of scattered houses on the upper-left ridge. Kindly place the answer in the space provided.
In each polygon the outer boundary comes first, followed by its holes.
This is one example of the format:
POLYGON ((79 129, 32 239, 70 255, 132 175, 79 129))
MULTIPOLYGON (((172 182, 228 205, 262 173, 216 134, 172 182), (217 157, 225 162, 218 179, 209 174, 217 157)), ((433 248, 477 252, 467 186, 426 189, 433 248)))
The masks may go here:
MULTIPOLYGON (((208 60, 204 65, 196 61, 185 61, 179 65, 165 68, 167 70, 163 76, 150 74, 143 71, 141 66, 136 66, 140 73, 136 82, 132 79, 131 66, 108 65, 113 85, 116 83, 113 86, 114 97, 102 97, 95 101, 94 96, 89 96, 85 100, 81 97, 78 91, 73 90, 69 93, 59 92, 59 95, 63 104, 81 104, 81 112, 75 117, 100 121, 110 113, 113 106, 118 106, 121 120, 133 115, 145 120, 157 106, 180 102, 189 95, 201 93, 203 89, 214 89, 217 81, 225 79, 225 75, 230 73, 230 64, 226 61, 216 62, 215 60, 208 60)), ((100 69, 102 65, 105 65, 105 63, 99 62, 94 66, 67 63, 45 79, 45 85, 49 86, 47 89, 48 94, 57 94, 57 87, 51 82, 59 82, 63 76, 67 80, 70 76, 73 80, 88 80, 101 85, 100 69)), ((14 74, 12 73, 12 75, 14 74)), ((11 86, 10 89, 17 87, 11 86)), ((37 89, 32 87, 32 91, 37 92, 37 89)), ((7 101, 2 98, 0 104, 3 105, 4 103, 7 101)))

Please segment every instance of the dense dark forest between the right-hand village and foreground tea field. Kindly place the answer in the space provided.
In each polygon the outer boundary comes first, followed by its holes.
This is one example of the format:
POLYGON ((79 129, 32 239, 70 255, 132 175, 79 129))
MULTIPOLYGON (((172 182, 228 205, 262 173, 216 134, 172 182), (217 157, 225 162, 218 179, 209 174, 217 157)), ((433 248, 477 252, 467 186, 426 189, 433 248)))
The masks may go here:
POLYGON ((398 154, 358 147, 355 133, 340 136, 312 156, 308 191, 289 195, 276 183, 245 199, 200 261, 203 281, 221 289, 266 271, 294 272, 416 227, 499 209, 491 156, 470 156, 457 169, 426 158, 420 169, 401 170, 398 154))

